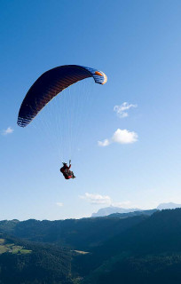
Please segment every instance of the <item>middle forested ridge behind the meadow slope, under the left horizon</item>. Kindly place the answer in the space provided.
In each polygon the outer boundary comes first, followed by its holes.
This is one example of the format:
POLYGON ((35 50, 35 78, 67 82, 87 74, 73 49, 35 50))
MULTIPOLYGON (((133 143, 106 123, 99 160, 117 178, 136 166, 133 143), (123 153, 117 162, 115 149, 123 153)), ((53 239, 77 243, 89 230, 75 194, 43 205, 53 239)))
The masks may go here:
POLYGON ((144 213, 140 216, 129 216, 122 216, 121 214, 119 217, 83 218, 79 220, 1 221, 0 233, 8 233, 28 241, 50 242, 59 244, 59 246, 84 250, 98 246, 103 241, 122 233, 132 225, 137 225, 146 218, 144 213))

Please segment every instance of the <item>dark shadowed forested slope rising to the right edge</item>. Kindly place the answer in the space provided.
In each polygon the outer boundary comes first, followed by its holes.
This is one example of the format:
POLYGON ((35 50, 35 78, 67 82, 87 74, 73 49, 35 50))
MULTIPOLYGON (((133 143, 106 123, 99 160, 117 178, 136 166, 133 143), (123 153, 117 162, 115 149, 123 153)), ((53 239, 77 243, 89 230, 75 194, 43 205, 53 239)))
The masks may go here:
POLYGON ((163 210, 76 258, 83 283, 180 283, 181 209, 163 210), (87 276, 89 275, 89 277, 87 276))

